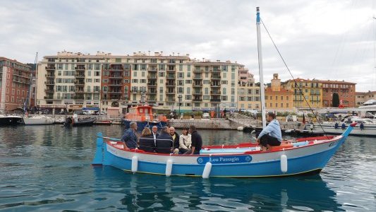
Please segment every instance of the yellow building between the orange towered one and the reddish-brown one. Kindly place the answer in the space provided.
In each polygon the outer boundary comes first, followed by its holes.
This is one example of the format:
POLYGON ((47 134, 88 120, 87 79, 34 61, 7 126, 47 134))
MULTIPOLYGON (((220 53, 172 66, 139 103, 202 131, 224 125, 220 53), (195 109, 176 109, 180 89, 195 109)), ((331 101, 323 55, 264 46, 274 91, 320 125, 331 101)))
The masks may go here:
POLYGON ((293 90, 293 107, 322 107, 321 81, 296 78, 282 83, 282 87, 293 90))

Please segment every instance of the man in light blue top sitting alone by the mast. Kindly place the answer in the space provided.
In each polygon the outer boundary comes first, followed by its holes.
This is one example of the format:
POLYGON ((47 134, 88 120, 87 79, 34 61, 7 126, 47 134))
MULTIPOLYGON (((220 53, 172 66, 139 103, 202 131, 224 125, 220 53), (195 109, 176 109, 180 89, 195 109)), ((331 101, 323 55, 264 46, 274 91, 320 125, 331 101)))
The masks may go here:
POLYGON ((257 143, 260 144, 261 151, 269 150, 270 146, 281 145, 281 126, 279 126, 279 122, 275 117, 273 112, 267 113, 267 122, 269 124, 267 124, 265 129, 262 129, 260 135, 257 137, 257 143))

